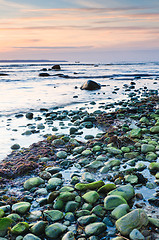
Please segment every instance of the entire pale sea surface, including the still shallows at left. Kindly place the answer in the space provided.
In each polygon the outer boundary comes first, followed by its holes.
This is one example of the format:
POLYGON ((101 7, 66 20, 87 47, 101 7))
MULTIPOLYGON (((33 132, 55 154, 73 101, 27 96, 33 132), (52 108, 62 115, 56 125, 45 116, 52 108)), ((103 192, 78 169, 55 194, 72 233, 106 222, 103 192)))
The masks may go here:
MULTIPOLYGON (((159 62, 139 63, 80 63, 80 62, 9 62, 0 63, 0 160, 8 153, 11 143, 20 141, 22 146, 36 141, 23 141, 17 127, 27 124, 23 119, 13 116, 16 113, 34 111, 40 108, 75 108, 81 104, 112 103, 126 99, 128 93, 123 86, 136 84, 136 89, 144 93, 148 89, 159 88, 159 62), (50 70, 54 64, 60 64, 61 70, 50 70), (39 77, 46 68, 51 76, 39 77), (8 74, 1 76, 2 74, 8 74), (82 91, 81 85, 93 80, 102 85, 97 91, 82 91)), ((141 94, 142 95, 142 94, 141 94)))

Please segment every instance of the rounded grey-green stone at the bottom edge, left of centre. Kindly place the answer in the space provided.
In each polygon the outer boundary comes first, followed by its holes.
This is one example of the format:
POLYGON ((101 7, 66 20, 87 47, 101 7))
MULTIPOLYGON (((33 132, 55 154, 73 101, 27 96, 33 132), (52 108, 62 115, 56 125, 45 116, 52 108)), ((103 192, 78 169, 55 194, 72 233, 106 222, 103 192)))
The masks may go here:
POLYGON ((45 234, 51 239, 60 239, 60 236, 67 230, 67 227, 61 223, 54 223, 46 227, 45 234))

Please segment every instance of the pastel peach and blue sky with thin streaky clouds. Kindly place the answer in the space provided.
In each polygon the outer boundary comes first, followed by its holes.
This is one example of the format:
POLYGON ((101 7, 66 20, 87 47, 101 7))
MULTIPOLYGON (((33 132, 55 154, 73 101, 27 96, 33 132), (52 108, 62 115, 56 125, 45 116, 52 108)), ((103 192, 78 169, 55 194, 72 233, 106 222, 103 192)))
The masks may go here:
POLYGON ((0 59, 159 60, 159 0, 0 0, 0 59))

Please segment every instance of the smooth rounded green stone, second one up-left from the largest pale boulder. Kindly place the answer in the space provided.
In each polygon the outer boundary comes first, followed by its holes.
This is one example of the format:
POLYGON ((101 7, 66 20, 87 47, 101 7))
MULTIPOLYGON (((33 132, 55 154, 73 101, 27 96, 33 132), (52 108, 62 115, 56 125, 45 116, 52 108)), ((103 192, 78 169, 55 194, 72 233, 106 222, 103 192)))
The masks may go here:
POLYGON ((104 207, 106 210, 113 210, 121 204, 127 204, 127 201, 119 195, 107 196, 104 199, 104 207))

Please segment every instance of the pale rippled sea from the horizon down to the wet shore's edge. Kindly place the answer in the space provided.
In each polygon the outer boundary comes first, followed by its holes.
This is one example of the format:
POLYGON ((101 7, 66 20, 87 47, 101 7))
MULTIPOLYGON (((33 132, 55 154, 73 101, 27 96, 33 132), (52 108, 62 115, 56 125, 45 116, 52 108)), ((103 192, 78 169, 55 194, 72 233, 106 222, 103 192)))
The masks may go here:
POLYGON ((29 108, 38 110, 41 107, 69 105, 74 102, 89 102, 111 97, 121 98, 122 91, 112 94, 114 86, 122 87, 135 79, 138 87, 149 85, 159 77, 159 62, 154 63, 59 63, 61 71, 49 71, 51 75, 39 77, 40 69, 51 68, 55 63, 0 63, 0 115, 25 111, 29 108), (102 85, 100 91, 81 91, 80 86, 92 79, 102 85), (75 86, 78 88, 75 89, 75 86))

